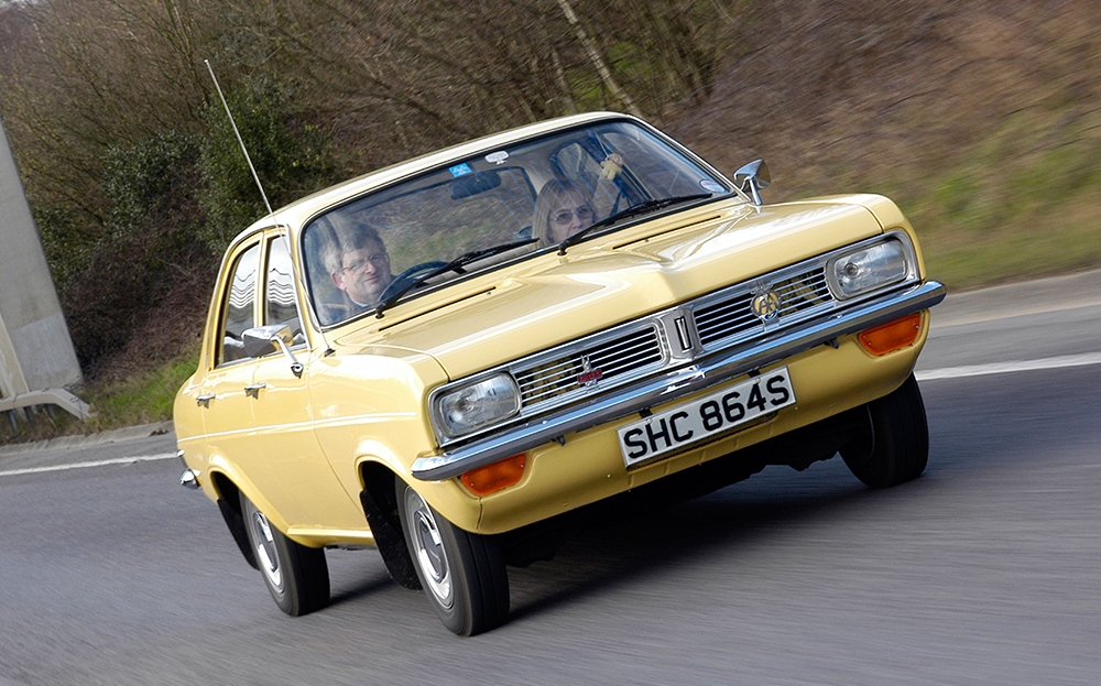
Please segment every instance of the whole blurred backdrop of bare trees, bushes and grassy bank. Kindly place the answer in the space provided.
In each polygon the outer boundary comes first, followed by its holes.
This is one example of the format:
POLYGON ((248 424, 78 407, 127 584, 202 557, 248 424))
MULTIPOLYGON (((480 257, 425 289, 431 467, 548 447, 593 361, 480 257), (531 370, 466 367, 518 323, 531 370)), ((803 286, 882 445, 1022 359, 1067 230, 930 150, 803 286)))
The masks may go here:
POLYGON ((1084 0, 0 0, 0 112, 94 382, 186 369, 264 214, 204 58, 276 207, 612 109, 728 174, 764 157, 767 202, 892 196, 952 287, 1101 263, 1084 0))

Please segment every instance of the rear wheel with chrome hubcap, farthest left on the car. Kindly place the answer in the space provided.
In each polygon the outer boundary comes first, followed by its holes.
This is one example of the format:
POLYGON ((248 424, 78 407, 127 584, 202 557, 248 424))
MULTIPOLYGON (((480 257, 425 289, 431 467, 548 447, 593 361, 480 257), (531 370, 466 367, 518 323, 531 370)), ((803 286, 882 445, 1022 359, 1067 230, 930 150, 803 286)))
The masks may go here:
POLYGON ((252 501, 241 494, 241 514, 260 575, 275 605, 292 617, 329 603, 329 567, 323 548, 291 541, 271 525, 252 501))

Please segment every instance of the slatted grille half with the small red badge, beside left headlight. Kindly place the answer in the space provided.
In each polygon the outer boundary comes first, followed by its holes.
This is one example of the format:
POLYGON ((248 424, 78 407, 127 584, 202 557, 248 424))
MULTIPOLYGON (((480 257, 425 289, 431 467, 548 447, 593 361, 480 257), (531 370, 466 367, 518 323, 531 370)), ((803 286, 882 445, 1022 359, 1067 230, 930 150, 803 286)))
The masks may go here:
POLYGON ((586 371, 599 370, 599 380, 606 381, 664 360, 657 331, 646 327, 513 373, 520 384, 521 406, 526 409, 581 389, 578 377, 586 371))

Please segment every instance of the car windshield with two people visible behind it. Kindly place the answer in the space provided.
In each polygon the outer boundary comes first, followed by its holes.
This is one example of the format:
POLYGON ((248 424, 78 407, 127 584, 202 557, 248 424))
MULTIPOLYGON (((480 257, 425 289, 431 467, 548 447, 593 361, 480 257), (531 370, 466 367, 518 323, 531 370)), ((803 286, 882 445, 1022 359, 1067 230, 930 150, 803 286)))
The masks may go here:
POLYGON ((304 232, 306 274, 330 325, 557 247, 645 203, 731 192, 646 129, 601 122, 488 149, 321 215, 304 232))

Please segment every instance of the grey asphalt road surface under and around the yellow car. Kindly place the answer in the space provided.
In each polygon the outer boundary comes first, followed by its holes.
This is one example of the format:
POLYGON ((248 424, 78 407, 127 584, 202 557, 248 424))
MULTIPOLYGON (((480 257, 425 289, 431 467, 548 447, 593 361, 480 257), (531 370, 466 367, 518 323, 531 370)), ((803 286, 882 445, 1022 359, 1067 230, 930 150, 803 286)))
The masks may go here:
POLYGON ((0 454, 0 686, 1099 684, 1101 287, 1053 292, 936 311, 920 479, 774 467, 588 531, 473 639, 373 551, 283 616, 171 435, 0 454))

